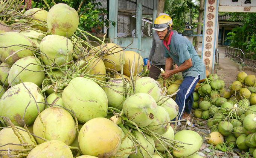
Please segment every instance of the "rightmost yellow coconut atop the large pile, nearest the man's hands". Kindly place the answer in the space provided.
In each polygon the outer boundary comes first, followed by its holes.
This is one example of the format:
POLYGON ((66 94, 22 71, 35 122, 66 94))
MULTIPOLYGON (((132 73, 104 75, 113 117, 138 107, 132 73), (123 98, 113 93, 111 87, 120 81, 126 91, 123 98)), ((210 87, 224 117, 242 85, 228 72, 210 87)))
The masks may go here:
POLYGON ((124 54, 125 54, 125 65, 123 66, 123 74, 130 77, 131 76, 130 71, 132 74, 133 70, 134 70, 134 74, 133 74, 134 76, 136 75, 137 71, 139 74, 142 71, 143 64, 144 64, 142 56, 140 56, 135 51, 125 51, 124 54), (138 65, 138 60, 139 60, 139 65, 138 65), (133 66, 133 61, 135 66, 133 66))

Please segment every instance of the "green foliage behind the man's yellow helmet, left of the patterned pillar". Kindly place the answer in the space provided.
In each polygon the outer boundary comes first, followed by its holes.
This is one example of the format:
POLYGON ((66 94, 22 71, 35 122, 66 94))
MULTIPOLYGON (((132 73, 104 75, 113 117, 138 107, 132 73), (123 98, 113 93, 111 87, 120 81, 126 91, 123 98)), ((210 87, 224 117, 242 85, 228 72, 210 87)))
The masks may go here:
MULTIPOLYGON (((183 32, 185 22, 189 21, 190 23, 190 18, 193 21, 198 17, 198 6, 192 0, 170 0, 165 4, 164 11, 170 15, 173 29, 178 32, 183 32)), ((197 27, 197 23, 192 22, 190 25, 197 27)))

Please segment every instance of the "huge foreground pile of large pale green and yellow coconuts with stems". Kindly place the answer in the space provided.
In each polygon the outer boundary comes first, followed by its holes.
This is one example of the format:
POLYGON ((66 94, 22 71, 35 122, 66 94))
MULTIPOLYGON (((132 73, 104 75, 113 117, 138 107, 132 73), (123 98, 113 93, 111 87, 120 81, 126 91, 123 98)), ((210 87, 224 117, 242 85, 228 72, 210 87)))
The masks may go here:
POLYGON ((170 127, 175 92, 140 77, 139 51, 78 29, 66 4, 20 5, 0 6, 0 157, 201 157, 197 132, 170 127))

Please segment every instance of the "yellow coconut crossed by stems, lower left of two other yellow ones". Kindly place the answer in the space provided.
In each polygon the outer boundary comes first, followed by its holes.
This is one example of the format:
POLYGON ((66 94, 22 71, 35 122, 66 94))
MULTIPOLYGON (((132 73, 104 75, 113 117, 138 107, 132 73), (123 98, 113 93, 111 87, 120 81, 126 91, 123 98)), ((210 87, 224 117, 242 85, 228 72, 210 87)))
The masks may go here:
MULTIPOLYGON (((87 62, 90 62, 90 60, 93 58, 94 56, 88 56, 86 58, 87 62)), ((92 59, 92 61, 89 64, 86 72, 88 72, 89 75, 94 75, 94 77, 97 80, 101 80, 101 81, 106 81, 106 69, 105 69, 105 65, 102 59, 100 58, 94 58, 92 59)))

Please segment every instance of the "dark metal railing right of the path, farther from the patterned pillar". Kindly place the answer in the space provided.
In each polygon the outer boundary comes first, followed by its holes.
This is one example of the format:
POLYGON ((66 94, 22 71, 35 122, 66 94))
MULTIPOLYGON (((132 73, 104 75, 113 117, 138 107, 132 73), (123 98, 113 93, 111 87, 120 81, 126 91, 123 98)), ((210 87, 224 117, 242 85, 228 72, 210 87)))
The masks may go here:
POLYGON ((242 64, 242 68, 244 69, 244 52, 241 49, 227 46, 225 57, 229 57, 234 62, 242 64))

